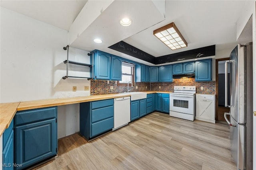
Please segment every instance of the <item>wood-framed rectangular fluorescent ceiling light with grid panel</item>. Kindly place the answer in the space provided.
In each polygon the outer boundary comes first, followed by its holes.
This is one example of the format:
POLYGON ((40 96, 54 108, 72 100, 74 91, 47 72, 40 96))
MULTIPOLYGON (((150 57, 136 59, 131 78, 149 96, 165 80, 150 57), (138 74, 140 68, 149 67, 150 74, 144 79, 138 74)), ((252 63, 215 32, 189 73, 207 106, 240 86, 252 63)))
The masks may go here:
POLYGON ((153 34, 172 50, 188 46, 188 43, 173 22, 154 30, 153 34))

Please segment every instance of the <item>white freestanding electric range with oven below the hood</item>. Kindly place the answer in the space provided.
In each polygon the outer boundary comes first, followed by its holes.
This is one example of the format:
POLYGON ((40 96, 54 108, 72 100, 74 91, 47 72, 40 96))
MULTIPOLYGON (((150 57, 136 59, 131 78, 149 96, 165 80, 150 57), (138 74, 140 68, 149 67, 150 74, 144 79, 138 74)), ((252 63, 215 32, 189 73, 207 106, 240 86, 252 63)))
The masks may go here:
POLYGON ((170 116, 194 121, 196 86, 174 86, 170 93, 170 116))

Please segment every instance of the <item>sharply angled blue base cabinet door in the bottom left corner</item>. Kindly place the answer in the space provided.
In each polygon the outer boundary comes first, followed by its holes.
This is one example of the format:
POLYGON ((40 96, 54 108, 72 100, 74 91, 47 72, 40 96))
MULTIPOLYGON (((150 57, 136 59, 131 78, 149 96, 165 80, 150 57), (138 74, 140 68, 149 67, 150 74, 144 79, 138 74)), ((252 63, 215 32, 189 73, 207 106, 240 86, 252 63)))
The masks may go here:
POLYGON ((14 133, 11 130, 10 136, 3 148, 3 164, 1 165, 3 170, 14 169, 14 133))

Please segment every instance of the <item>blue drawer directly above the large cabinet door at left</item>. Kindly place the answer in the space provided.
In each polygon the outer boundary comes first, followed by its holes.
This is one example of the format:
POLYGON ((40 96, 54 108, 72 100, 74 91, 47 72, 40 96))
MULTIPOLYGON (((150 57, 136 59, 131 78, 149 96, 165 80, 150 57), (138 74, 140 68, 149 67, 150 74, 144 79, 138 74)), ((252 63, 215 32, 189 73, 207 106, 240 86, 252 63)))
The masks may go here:
POLYGON ((56 118, 56 115, 57 107, 18 111, 15 115, 15 125, 56 118))

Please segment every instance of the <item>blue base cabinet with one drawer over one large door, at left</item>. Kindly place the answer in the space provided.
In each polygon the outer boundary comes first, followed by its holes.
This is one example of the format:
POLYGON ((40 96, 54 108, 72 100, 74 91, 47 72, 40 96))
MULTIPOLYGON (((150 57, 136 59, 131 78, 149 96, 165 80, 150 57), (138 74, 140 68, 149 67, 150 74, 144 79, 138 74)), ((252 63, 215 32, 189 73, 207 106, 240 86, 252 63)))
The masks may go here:
POLYGON ((57 154, 57 107, 18 111, 15 115, 17 170, 57 154))

